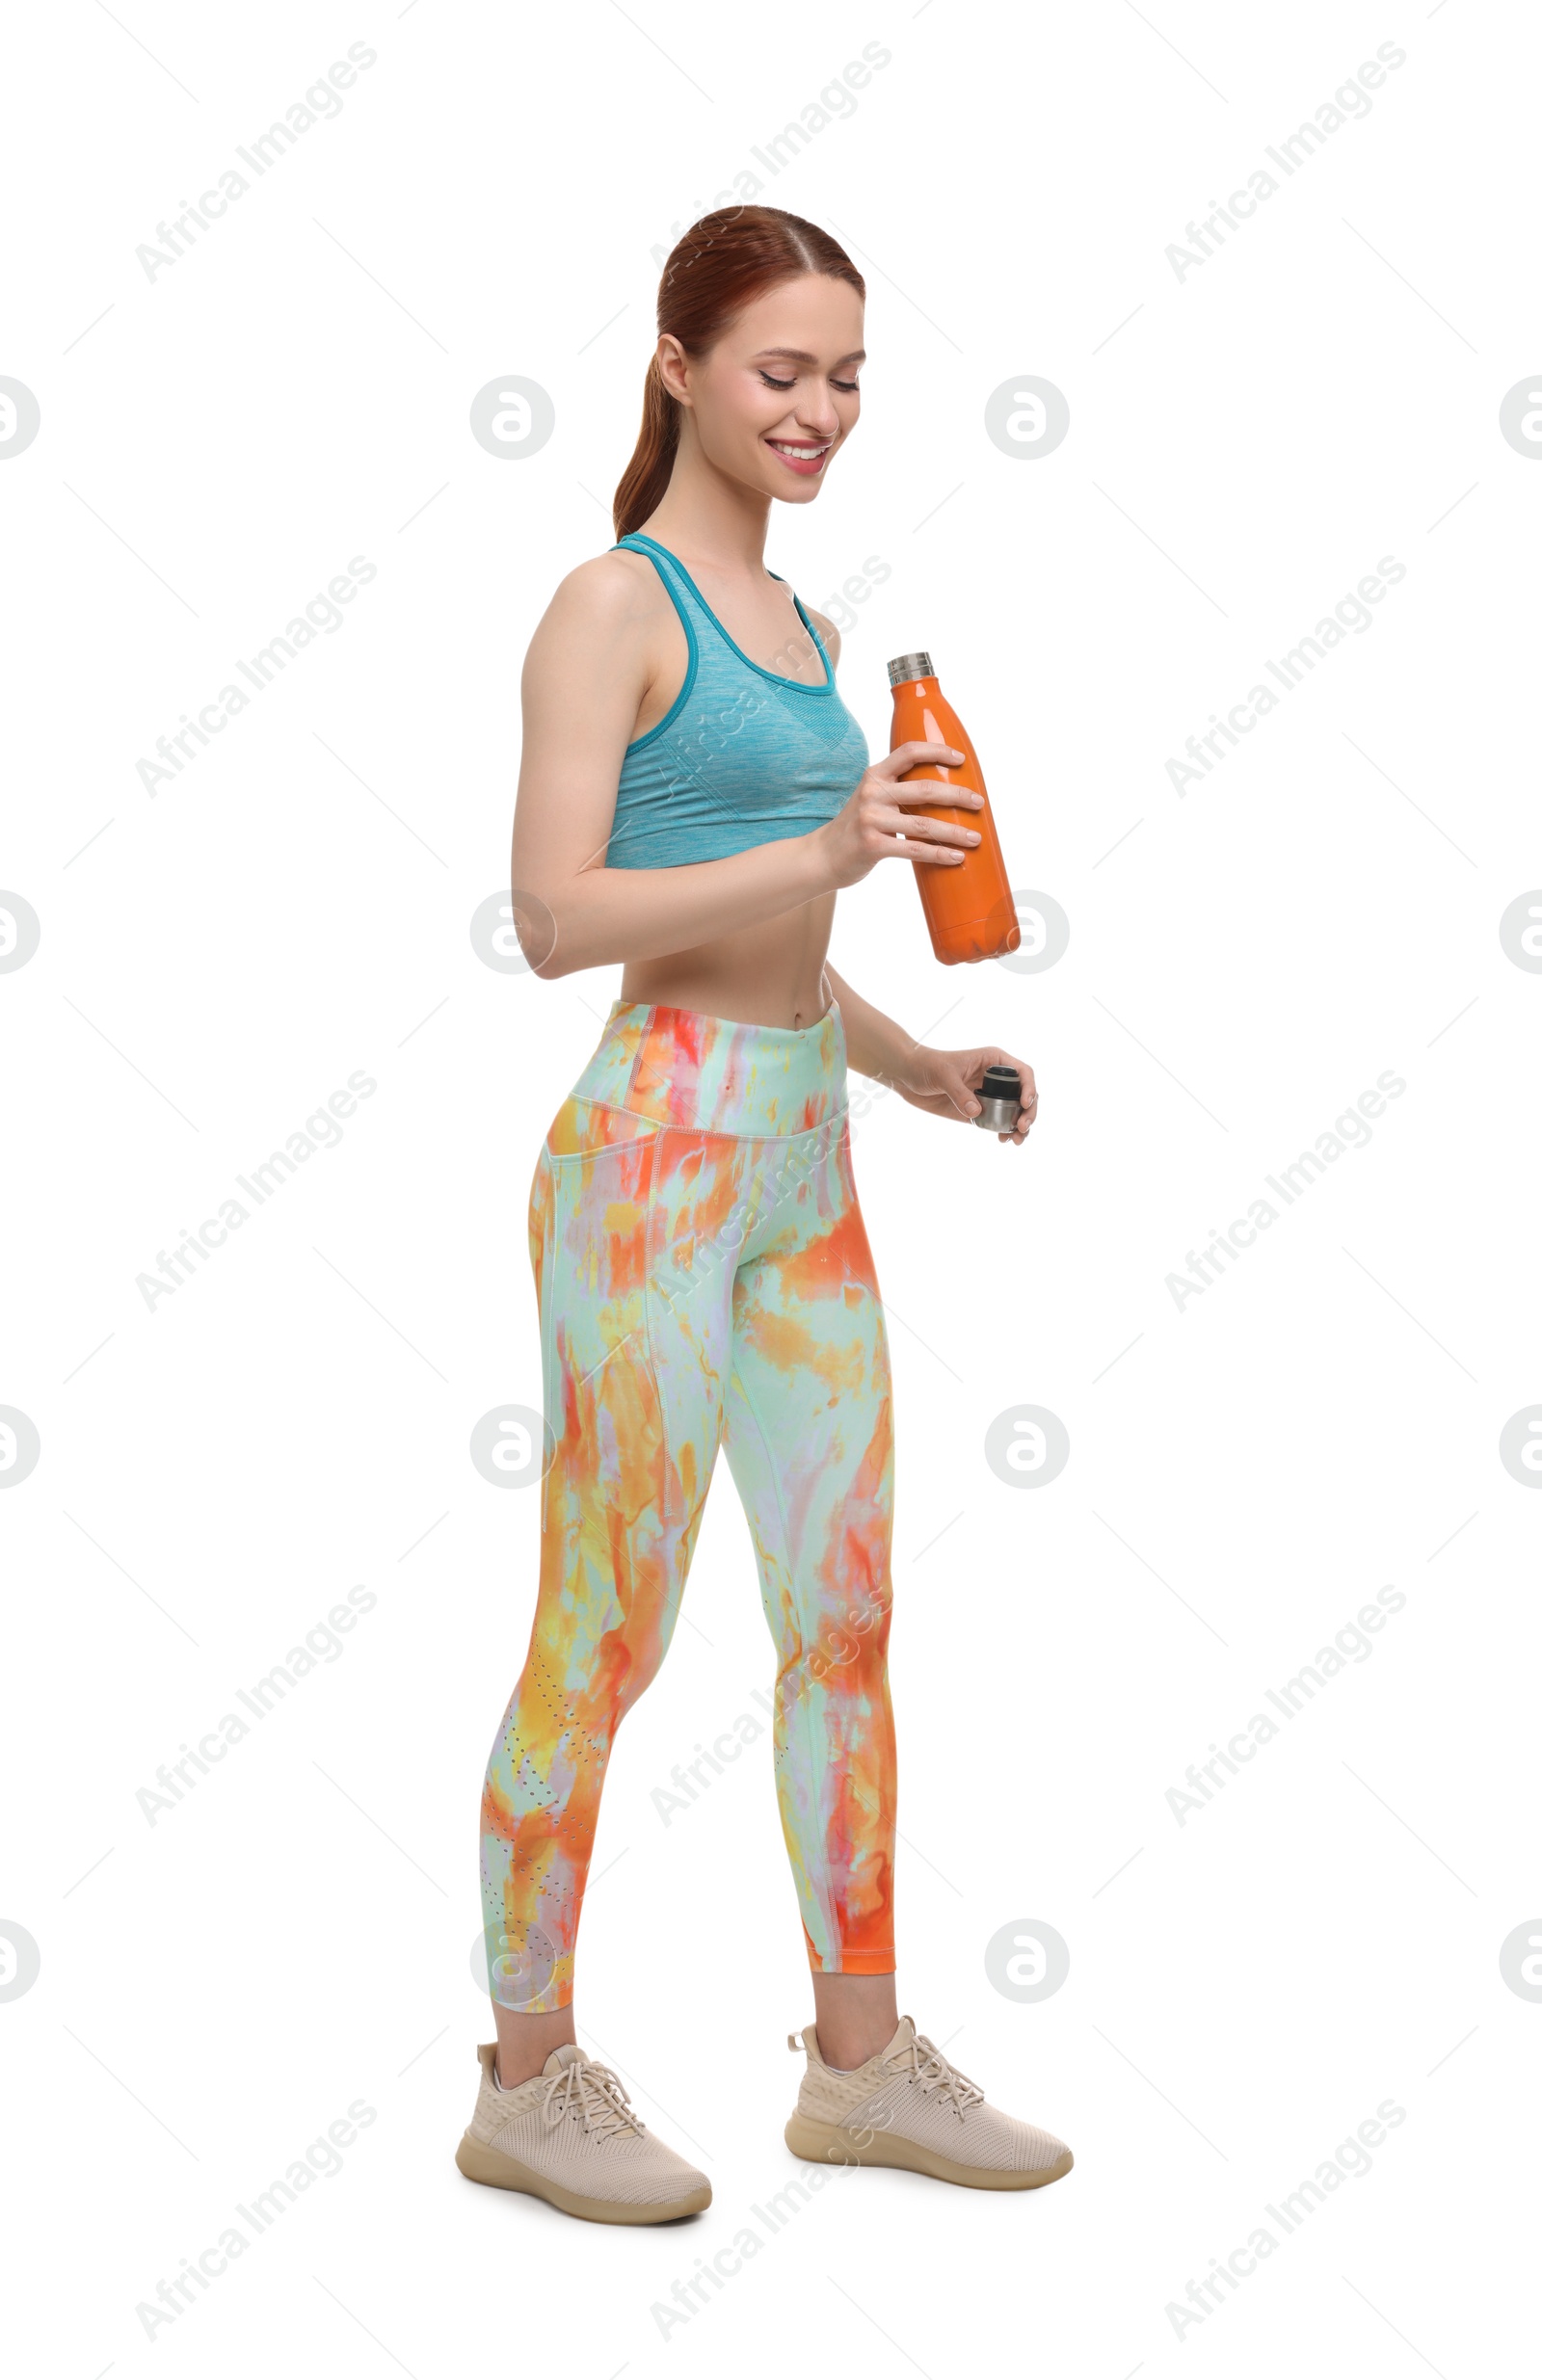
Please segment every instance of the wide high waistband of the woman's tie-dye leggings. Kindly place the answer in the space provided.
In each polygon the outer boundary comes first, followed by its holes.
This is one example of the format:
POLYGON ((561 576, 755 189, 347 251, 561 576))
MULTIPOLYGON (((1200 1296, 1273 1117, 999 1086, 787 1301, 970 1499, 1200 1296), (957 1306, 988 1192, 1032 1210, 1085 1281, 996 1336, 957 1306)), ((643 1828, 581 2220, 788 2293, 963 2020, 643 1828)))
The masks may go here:
POLYGON ((740 1138, 814 1130, 847 1104, 840 1004, 792 1033, 616 1000, 573 1097, 740 1138))

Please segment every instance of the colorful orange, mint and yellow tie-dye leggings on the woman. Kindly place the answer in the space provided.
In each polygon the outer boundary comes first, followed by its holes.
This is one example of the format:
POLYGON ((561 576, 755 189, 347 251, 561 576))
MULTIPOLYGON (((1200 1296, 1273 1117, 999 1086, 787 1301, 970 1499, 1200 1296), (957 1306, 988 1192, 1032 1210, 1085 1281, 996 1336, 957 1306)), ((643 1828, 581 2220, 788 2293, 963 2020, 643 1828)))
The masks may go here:
POLYGON ((504 2006, 573 1997, 604 1764, 669 1649, 719 1442, 776 1642, 809 1966, 895 1966, 892 1404, 845 1107, 835 1004, 785 1033, 616 1002, 547 1133, 540 1590, 481 1811, 504 2006))

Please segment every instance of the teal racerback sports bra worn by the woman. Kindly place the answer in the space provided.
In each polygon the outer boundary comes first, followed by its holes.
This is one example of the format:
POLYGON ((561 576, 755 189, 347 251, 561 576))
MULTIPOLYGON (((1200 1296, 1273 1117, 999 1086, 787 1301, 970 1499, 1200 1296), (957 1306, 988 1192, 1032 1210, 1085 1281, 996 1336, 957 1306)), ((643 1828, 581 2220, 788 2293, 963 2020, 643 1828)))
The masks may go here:
POLYGON ((838 816, 869 747, 797 595, 797 616, 823 659, 823 685, 783 678, 740 652, 685 564, 654 538, 635 531, 619 545, 647 555, 669 588, 688 662, 664 719, 626 747, 604 864, 678 869, 728 859, 838 816))

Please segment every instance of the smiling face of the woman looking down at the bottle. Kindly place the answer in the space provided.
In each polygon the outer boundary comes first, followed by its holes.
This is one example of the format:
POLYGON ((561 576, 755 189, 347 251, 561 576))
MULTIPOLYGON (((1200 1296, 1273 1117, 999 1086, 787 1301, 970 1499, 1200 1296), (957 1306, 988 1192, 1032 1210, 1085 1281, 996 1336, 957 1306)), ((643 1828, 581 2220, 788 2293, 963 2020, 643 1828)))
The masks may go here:
POLYGON ((861 352, 857 290, 800 274, 747 305, 702 357, 664 333, 659 369, 714 469, 757 495, 811 505, 857 428, 861 352))

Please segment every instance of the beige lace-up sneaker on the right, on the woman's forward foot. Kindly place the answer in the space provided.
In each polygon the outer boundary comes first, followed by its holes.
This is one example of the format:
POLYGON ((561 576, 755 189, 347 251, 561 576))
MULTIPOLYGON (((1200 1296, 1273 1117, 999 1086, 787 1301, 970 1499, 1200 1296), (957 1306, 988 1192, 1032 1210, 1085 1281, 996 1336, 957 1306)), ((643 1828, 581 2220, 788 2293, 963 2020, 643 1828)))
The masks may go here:
POLYGON ((909 2016, 854 2073, 826 2066, 814 2025, 790 2033, 788 2049, 800 2040, 809 2068, 785 2140, 809 2163, 904 2166, 971 2190, 1038 2190, 1071 2173, 1064 2140, 988 2106, 909 2016))

